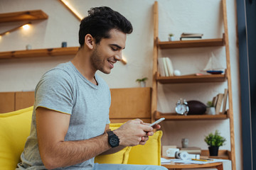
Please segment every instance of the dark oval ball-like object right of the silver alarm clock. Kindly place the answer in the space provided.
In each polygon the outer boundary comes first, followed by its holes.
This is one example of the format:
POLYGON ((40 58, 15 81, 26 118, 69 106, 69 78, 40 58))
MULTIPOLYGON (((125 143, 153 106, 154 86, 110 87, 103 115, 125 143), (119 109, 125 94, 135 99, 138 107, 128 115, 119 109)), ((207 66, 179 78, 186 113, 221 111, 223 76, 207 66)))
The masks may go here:
POLYGON ((203 115, 206 113, 206 105, 201 101, 187 101, 188 103, 188 115, 203 115))

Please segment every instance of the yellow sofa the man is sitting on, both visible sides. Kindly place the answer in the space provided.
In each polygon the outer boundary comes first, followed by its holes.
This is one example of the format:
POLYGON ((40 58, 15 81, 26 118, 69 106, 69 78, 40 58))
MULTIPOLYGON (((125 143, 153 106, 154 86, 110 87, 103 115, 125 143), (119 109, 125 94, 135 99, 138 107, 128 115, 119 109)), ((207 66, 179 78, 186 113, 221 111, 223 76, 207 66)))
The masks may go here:
MULTIPOLYGON (((30 133, 33 106, 10 113, 0 113, 0 167, 13 170, 20 162, 20 155, 30 133)), ((121 123, 110 124, 112 130, 121 123)), ((153 164, 160 165, 161 136, 159 130, 149 137, 146 145, 126 147, 120 152, 95 157, 100 164, 153 164)))

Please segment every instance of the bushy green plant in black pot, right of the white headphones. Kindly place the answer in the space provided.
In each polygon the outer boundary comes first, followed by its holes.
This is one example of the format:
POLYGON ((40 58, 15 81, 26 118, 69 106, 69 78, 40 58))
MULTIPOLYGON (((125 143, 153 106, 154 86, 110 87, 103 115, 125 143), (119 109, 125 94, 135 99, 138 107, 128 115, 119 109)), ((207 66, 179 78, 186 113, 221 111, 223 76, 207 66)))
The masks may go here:
POLYGON ((209 146, 208 149, 210 156, 218 156, 218 149, 224 145, 226 139, 225 137, 220 136, 220 132, 218 132, 218 130, 215 130, 215 134, 210 132, 204 141, 209 146))

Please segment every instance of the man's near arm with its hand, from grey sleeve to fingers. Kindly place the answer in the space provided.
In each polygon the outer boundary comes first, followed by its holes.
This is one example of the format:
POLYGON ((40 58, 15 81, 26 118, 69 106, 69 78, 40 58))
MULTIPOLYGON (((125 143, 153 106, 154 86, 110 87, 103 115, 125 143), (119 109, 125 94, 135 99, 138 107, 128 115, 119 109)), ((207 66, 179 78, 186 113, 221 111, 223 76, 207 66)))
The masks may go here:
MULTIPOLYGON (((68 114, 41 107, 36 109, 38 147, 46 169, 78 164, 111 149, 107 133, 89 140, 64 141, 69 122, 68 114)), ((119 137, 119 145, 127 147, 142 144, 144 136, 152 130, 142 125, 141 120, 129 120, 114 133, 119 137)))

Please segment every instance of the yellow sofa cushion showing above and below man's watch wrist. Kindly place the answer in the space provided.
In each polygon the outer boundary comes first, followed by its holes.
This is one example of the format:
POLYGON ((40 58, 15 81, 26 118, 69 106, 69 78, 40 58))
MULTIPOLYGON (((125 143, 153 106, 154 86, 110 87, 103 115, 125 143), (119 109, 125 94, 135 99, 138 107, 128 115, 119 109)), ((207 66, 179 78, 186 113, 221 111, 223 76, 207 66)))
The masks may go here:
MULTIPOLYGON (((116 130, 122 124, 123 123, 110 123, 110 129, 116 130)), ((114 154, 98 155, 95 157, 95 162, 99 164, 127 164, 131 148, 132 147, 125 147, 114 154)))

